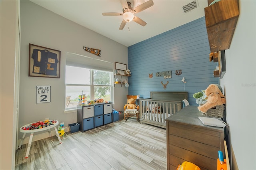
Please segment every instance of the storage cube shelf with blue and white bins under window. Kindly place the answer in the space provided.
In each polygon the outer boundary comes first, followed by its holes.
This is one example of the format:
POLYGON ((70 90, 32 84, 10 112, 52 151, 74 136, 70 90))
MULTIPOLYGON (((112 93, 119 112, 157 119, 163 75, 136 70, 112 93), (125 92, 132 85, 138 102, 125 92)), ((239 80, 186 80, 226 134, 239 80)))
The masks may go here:
POLYGON ((112 123, 112 103, 78 105, 77 120, 81 132, 112 123))

